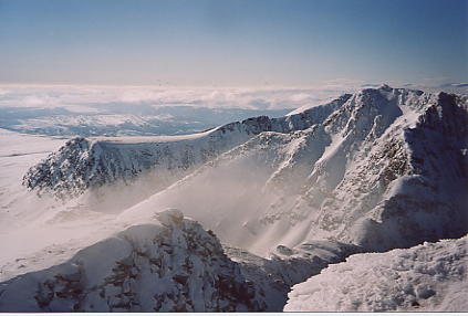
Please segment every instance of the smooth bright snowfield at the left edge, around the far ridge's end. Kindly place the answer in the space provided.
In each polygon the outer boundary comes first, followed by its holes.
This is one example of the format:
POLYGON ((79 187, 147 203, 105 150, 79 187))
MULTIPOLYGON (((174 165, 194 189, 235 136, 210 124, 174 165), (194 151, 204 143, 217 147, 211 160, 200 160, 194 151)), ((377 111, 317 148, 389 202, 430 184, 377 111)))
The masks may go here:
POLYGON ((90 230, 105 230, 105 214, 38 197, 21 185, 28 168, 64 141, 0 129, 0 280, 61 262, 83 246, 90 230))

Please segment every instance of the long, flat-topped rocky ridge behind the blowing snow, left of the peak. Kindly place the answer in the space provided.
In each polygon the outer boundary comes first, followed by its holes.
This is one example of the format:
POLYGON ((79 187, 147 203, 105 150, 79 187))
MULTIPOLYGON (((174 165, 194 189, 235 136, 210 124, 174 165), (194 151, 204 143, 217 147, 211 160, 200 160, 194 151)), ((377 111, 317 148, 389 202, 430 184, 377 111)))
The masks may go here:
POLYGON ((60 198, 83 193, 118 180, 132 181, 144 172, 157 177, 162 188, 180 179, 194 167, 212 160, 254 135, 266 130, 288 133, 304 129, 326 118, 350 96, 282 118, 260 116, 201 134, 173 137, 96 138, 67 141, 58 152, 32 167, 24 186, 53 192, 60 198))

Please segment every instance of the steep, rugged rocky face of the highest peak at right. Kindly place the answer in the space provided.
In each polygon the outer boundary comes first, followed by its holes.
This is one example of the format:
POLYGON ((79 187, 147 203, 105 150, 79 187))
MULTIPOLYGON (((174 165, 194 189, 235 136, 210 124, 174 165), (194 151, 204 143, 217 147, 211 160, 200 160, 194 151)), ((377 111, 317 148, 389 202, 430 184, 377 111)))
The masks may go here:
POLYGON ((332 141, 292 210, 311 220, 309 238, 385 251, 464 235, 467 99, 389 87, 353 96, 325 122, 332 141))

